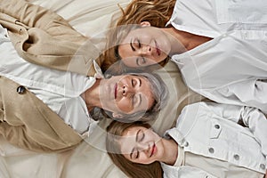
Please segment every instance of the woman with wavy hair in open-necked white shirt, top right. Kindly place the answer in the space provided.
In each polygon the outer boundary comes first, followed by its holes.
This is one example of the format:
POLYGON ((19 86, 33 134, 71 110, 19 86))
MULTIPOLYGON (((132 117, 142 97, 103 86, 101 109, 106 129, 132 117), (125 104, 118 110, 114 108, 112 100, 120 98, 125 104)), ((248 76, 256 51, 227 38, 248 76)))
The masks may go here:
POLYGON ((104 68, 117 61, 122 69, 153 70, 173 61, 194 92, 267 113, 263 1, 133 1, 117 27, 104 68))

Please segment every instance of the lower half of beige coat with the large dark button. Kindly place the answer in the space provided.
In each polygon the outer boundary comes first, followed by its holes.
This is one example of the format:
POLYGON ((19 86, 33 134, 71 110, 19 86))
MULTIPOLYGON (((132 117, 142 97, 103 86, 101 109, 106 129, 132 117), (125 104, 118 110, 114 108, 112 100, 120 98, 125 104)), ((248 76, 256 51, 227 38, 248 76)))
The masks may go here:
POLYGON ((26 87, 0 77, 0 134, 35 151, 69 150, 82 141, 75 130, 26 87))

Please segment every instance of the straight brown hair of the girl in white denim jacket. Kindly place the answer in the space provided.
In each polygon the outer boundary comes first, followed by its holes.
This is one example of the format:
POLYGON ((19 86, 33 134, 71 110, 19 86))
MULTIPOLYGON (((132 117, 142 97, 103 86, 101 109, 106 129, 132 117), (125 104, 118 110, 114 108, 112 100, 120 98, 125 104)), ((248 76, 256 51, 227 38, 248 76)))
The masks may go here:
POLYGON ((140 121, 134 123, 112 121, 107 127, 108 134, 106 138, 106 149, 108 151, 109 158, 111 158, 113 163, 129 177, 162 178, 163 170, 158 161, 151 163, 150 165, 142 165, 131 162, 121 154, 117 137, 122 136, 125 130, 134 126, 150 128, 149 124, 142 123, 140 121))

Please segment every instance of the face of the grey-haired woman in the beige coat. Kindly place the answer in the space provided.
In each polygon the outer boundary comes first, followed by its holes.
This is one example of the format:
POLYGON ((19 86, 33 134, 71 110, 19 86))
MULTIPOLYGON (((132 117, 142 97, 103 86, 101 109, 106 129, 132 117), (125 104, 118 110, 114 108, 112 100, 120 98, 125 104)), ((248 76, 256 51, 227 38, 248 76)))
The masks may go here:
POLYGON ((101 80, 102 108, 113 117, 146 111, 154 104, 150 81, 146 77, 125 75, 101 80))

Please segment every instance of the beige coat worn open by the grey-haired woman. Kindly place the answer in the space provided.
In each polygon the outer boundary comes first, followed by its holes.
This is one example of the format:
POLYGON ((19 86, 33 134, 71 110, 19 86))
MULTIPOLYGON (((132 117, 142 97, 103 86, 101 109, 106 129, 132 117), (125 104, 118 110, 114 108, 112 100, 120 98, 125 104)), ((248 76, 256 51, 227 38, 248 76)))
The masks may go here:
MULTIPOLYGON (((23 59, 94 75, 98 53, 93 44, 56 13, 21 0, 0 0, 0 23, 23 59)), ((82 141, 26 87, 5 77, 0 77, 0 134, 20 148, 36 151, 67 150, 82 141)))

